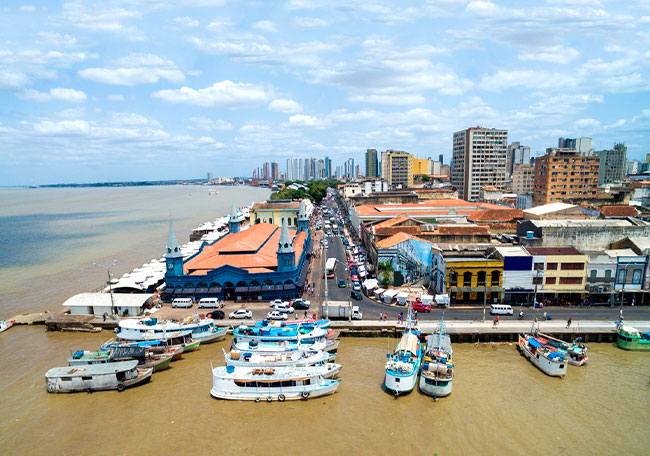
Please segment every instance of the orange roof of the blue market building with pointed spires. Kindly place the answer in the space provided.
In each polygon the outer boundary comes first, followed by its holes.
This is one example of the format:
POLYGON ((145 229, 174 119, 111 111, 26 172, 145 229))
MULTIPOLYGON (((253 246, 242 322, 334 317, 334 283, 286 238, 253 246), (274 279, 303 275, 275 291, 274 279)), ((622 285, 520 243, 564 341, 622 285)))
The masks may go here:
MULTIPOLYGON (((194 258, 183 265, 186 273, 207 274, 221 266, 247 269, 251 273, 273 271, 278 266, 277 250, 280 227, 272 223, 256 223, 249 229, 228 234, 206 245, 194 258)), ((293 236, 296 230, 289 230, 293 236)), ((299 233, 293 241, 296 264, 302 254, 307 233, 299 233)))

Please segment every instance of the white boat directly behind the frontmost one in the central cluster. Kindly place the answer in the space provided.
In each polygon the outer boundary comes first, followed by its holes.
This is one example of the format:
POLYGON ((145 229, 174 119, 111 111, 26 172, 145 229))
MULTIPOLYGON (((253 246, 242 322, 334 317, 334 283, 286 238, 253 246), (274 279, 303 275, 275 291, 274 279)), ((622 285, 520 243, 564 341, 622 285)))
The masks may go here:
MULTIPOLYGON (((223 350, 223 349, 222 349, 223 350)), ((252 351, 223 350, 226 366, 238 367, 286 367, 286 366, 323 366, 331 359, 328 352, 319 350, 295 350, 281 353, 264 353, 252 351)), ((336 356, 335 356, 336 357, 336 356)), ((339 364, 339 366, 342 366, 339 364)), ((340 370, 340 369, 339 369, 340 370)), ((339 371, 332 373, 338 374, 339 371)))

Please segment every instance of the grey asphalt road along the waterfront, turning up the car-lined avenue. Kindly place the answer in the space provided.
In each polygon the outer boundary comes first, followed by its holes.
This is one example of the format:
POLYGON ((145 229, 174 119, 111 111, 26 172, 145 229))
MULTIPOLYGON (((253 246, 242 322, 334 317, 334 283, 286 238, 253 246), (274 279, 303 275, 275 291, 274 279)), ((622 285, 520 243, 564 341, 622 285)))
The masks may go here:
MULTIPOLYGON (((331 207, 331 206, 330 206, 331 207)), ((351 282, 349 272, 347 271, 347 258, 345 256, 345 247, 340 236, 326 237, 329 241, 327 248, 327 258, 335 257, 341 263, 336 266, 336 278, 327 279, 328 296, 330 301, 348 301, 350 299, 351 282), (339 288, 337 283, 340 279, 346 281, 346 288, 339 288)), ((321 264, 320 262, 318 263, 321 264)), ((321 266, 319 266, 321 267, 321 266)), ((406 312, 403 306, 388 305, 371 300, 363 296, 361 301, 352 301, 353 305, 358 305, 363 313, 364 320, 379 320, 380 313, 387 313, 389 320, 397 319, 400 312, 406 312)), ((544 312, 550 315, 554 320, 567 320, 569 317, 573 320, 618 320, 619 308, 609 306, 597 306, 591 308, 578 307, 546 307, 541 311, 526 307, 514 307, 513 316, 500 316, 500 320, 517 320, 519 310, 524 311, 524 320, 531 322, 535 317, 542 318, 544 312)), ((421 320, 439 320, 442 316, 441 309, 432 309, 430 313, 418 313, 418 319, 421 320)), ((623 315, 627 320, 650 320, 650 307, 630 307, 625 306, 623 315)), ((489 307, 485 314, 486 320, 494 317, 489 314, 489 307)), ((463 306, 462 308, 450 308, 445 310, 445 319, 447 320, 482 320, 483 306, 471 307, 463 306)))

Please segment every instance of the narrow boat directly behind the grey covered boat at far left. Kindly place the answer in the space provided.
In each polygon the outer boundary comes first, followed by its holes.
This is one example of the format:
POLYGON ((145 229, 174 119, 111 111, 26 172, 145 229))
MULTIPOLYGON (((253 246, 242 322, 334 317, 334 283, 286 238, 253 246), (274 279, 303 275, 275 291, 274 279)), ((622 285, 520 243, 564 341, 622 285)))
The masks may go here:
POLYGON ((68 359, 68 365, 87 366, 135 359, 138 367, 151 367, 154 372, 160 372, 169 367, 172 357, 172 353, 156 353, 146 347, 114 347, 109 351, 76 351, 68 359))

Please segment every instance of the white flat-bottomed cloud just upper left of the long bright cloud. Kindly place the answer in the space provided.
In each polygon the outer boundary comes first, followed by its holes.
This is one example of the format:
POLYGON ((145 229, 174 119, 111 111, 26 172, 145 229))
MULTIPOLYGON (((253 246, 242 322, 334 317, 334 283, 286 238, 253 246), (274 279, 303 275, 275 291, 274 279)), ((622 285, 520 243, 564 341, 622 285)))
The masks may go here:
POLYGON ((114 60, 105 68, 86 68, 79 76, 104 84, 133 86, 154 84, 161 79, 183 82, 185 76, 171 60, 153 54, 131 54, 114 60))

